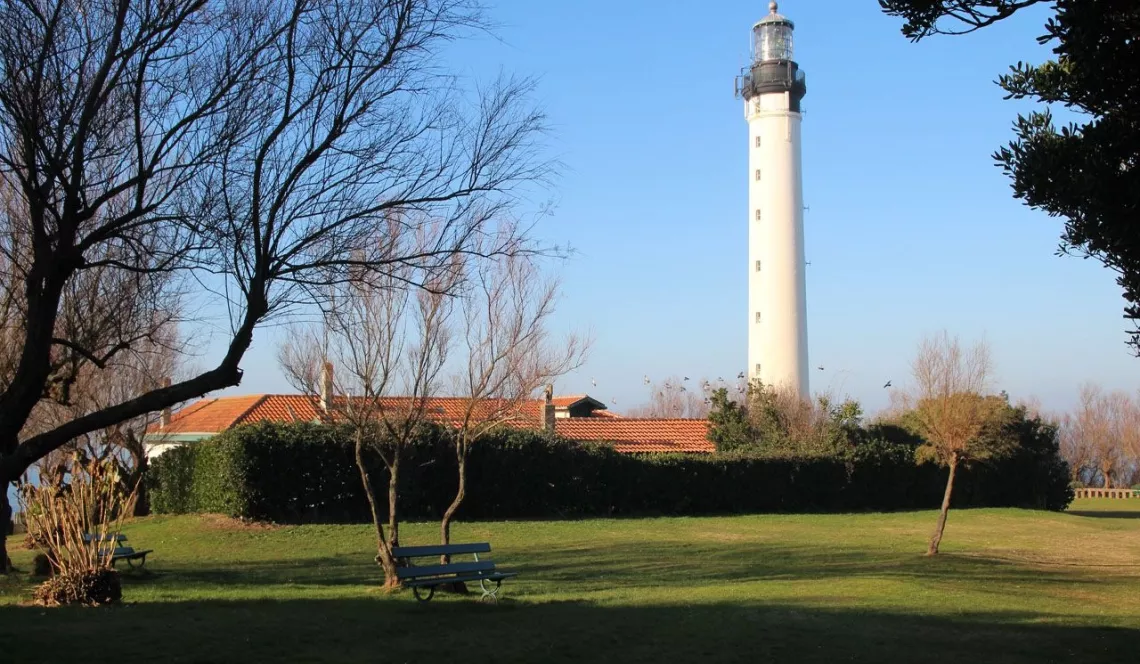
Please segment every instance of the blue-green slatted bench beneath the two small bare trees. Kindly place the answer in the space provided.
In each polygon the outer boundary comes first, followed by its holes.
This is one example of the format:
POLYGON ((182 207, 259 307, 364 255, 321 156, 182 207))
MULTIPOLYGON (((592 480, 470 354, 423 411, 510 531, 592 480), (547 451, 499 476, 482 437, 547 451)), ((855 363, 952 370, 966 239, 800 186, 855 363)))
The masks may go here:
MULTIPOLYGON (((494 560, 480 560, 480 553, 490 553, 489 542, 472 544, 437 544, 434 546, 397 546, 392 549, 396 558, 396 574, 400 582, 412 589, 420 601, 431 601, 435 588, 449 583, 479 582, 483 594, 480 601, 496 601, 503 581, 518 576, 518 572, 506 572, 495 568, 494 560), (448 565, 413 565, 414 558, 439 558, 440 556, 474 556, 473 562, 455 562, 448 565)), ((450 560, 450 558, 449 558, 450 560)))

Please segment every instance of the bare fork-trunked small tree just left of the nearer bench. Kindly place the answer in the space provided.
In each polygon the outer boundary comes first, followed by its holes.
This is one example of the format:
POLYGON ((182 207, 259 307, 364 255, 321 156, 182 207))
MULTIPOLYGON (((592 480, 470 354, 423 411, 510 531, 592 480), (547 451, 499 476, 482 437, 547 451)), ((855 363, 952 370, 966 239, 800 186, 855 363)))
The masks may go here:
POLYGON ((429 418, 427 399, 447 359, 456 274, 443 270, 417 283, 416 270, 405 268, 348 285, 329 298, 324 322, 299 331, 279 354, 294 387, 351 431, 376 532, 376 562, 389 589, 399 585, 392 549, 400 537, 400 461, 429 418), (415 294, 409 283, 416 283, 415 294), (366 451, 388 470, 386 535, 366 451))

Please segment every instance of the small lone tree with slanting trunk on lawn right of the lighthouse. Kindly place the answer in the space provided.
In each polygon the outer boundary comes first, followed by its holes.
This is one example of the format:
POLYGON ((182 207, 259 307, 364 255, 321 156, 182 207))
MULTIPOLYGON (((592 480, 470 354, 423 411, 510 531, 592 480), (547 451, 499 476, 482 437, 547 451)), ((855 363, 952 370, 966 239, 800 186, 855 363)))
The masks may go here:
POLYGON ((962 348, 956 338, 943 332, 922 341, 911 369, 915 384, 912 394, 903 395, 903 400, 910 407, 914 428, 925 439, 919 459, 950 469, 938 523, 927 549, 927 556, 934 556, 946 528, 959 467, 1001 456, 1008 450, 1008 437, 983 436, 1005 404, 986 394, 992 363, 984 342, 962 348))

